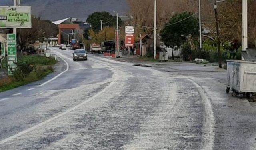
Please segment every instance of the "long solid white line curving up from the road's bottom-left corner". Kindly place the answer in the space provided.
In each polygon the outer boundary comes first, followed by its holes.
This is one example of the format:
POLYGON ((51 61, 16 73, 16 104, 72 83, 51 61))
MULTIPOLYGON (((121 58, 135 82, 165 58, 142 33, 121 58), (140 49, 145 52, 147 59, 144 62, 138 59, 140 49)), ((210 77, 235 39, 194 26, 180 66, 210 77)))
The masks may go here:
MULTIPOLYGON (((115 72, 114 72, 114 75, 113 75, 113 79, 114 79, 114 80, 118 80, 117 77, 115 76, 115 72)), ((73 110, 79 108, 80 106, 82 106, 82 105, 84 105, 84 104, 90 102, 91 100, 94 100, 96 97, 98 97, 100 94, 102 94, 103 92, 105 92, 108 88, 110 88, 114 83, 115 83, 115 82, 112 81, 106 88, 104 88, 103 90, 101 90, 100 92, 98 92, 97 94, 95 94, 94 96, 92 96, 91 98, 89 98, 88 100, 85 100, 84 102, 82 102, 82 103, 80 103, 80 104, 74 106, 73 108, 70 108, 70 109, 66 110, 65 112, 62 112, 61 114, 58 114, 57 116, 55 116, 55 117, 53 117, 53 118, 50 118, 50 119, 48 119, 48 120, 45 120, 44 122, 41 122, 40 124, 37 124, 36 126, 33 126, 33 127, 31 127, 31 128, 28 128, 28 129, 26 129, 26 130, 24 130, 24 131, 22 131, 22 132, 20 132, 20 133, 18 133, 18 134, 15 134, 15 135, 13 135, 13 136, 10 136, 9 138, 6 138, 6 139, 4 139, 4 140, 1 140, 1 141, 0 141, 0 145, 4 144, 5 142, 7 142, 7 141, 9 141, 9 140, 13 140, 13 139, 15 139, 15 138, 21 136, 22 134, 26 134, 26 133, 28 133, 28 132, 30 132, 30 131, 32 131, 32 130, 35 130, 36 128, 38 128, 38 127, 40 127, 40 126, 44 126, 44 125, 47 124, 48 122, 51 122, 51 121, 53 121, 53 120, 55 120, 55 119, 57 119, 57 118, 60 118, 60 117, 64 116, 65 114, 68 114, 68 113, 72 112, 73 110)))

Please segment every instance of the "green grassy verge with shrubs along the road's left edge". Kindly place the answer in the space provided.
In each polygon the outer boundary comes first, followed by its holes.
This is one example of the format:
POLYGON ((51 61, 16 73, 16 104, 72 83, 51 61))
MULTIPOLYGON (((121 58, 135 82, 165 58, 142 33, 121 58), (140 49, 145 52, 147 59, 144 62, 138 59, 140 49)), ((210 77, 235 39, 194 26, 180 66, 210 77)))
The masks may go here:
POLYGON ((54 58, 48 59, 45 56, 31 55, 19 58, 18 68, 14 72, 14 76, 0 80, 0 92, 41 80, 54 72, 52 66, 56 63, 57 61, 54 58))

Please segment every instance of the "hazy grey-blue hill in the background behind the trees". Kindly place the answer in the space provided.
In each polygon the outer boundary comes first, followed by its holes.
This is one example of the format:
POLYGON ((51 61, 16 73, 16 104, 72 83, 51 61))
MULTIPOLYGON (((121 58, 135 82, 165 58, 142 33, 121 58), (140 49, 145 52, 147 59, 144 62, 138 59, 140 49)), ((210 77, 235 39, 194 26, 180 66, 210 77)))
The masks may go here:
MULTIPOLYGON (((11 0, 0 0, 0 6, 13 5, 11 0)), ((122 14, 128 10, 126 0, 22 0, 22 6, 32 6, 32 14, 47 20, 60 20, 67 17, 86 20, 97 11, 122 14)))

